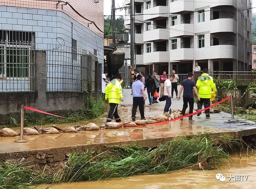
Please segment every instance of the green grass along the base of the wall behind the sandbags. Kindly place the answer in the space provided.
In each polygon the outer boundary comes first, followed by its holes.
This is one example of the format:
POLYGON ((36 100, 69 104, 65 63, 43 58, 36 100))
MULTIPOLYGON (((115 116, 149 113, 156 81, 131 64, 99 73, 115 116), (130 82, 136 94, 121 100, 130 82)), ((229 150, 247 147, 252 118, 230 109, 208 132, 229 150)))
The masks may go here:
MULTIPOLYGON (((76 113, 68 115, 70 119, 57 118, 54 116, 48 116, 40 113, 25 114, 24 126, 35 126, 35 125, 46 125, 46 124, 61 124, 71 123, 75 121, 90 120, 99 117, 106 110, 106 103, 103 99, 96 100, 93 97, 87 98, 84 101, 84 107, 76 113), (73 119, 73 120, 71 120, 73 119)), ((19 124, 13 121, 12 117, 7 117, 5 120, 6 124, 1 125, 3 127, 17 127, 19 124)))

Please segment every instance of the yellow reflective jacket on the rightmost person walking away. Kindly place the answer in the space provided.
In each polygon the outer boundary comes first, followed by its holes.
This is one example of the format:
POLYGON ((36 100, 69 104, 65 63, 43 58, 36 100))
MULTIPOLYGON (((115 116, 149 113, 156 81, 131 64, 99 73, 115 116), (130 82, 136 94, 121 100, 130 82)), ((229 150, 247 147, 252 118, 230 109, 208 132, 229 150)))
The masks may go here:
POLYGON ((213 79, 208 74, 202 74, 197 82, 196 87, 199 88, 198 96, 199 98, 211 98, 211 92, 217 91, 216 85, 213 82, 213 79))

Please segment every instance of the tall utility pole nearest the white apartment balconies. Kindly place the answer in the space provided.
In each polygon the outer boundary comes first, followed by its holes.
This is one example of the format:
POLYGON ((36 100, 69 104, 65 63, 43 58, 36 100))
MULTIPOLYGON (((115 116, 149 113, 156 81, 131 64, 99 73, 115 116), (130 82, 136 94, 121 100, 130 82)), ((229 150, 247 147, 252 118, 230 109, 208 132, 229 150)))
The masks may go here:
POLYGON ((134 0, 130 1, 131 3, 131 11, 130 11, 130 19, 131 19, 131 66, 132 69, 136 69, 136 63, 134 61, 134 0))

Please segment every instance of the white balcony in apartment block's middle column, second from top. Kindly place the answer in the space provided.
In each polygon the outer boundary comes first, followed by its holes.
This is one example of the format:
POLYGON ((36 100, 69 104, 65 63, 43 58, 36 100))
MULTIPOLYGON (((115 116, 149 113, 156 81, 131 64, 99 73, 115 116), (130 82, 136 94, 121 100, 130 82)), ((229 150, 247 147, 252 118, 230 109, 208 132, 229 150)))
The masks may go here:
MULTIPOLYGON (((178 2, 178 1, 175 1, 178 2)), ((170 38, 179 38, 181 36, 193 36, 194 25, 193 24, 179 24, 170 27, 170 38)))

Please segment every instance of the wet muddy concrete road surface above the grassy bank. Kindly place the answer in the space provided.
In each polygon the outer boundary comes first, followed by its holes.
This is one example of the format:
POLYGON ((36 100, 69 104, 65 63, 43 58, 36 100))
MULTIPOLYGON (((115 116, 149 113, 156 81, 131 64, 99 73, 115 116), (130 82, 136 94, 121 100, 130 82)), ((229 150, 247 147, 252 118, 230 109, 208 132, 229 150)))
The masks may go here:
MULTIPOLYGON (((119 114, 122 120, 131 120, 131 90, 124 90, 124 106, 119 107, 119 114)), ((182 108, 181 101, 176 98, 172 100, 172 109, 182 108)), ((147 102, 146 102, 147 104, 147 102)), ((145 117, 153 117, 162 114, 165 102, 153 105, 145 105, 145 117)), ((196 107, 196 106, 195 106, 196 107)), ((137 112, 139 116, 139 113, 137 112)), ((38 160, 38 153, 55 154, 60 156, 57 161, 65 160, 65 154, 74 150, 86 150, 88 148, 102 147, 104 144, 119 145, 138 143, 143 146, 157 146, 164 141, 169 141, 176 136, 198 135, 206 133, 233 134, 236 136, 247 136, 256 134, 256 124, 252 121, 239 120, 235 123, 229 123, 230 114, 220 113, 211 114, 211 118, 205 118, 202 114, 200 117, 194 116, 195 122, 188 122, 188 118, 183 121, 174 121, 168 124, 146 127, 125 127, 120 129, 106 129, 99 131, 83 131, 80 133, 60 133, 44 134, 38 136, 25 136, 28 143, 15 143, 18 137, 1 137, 0 138, 0 161, 6 159, 26 159, 38 160), (60 155, 62 154, 62 156, 60 155)), ((91 120, 97 125, 102 125, 106 121, 106 114, 96 120, 91 120)), ((78 122, 68 125, 85 125, 87 122, 78 122)), ((58 124, 57 126, 65 127, 67 124, 58 124)), ((51 126, 51 125, 50 125, 51 126)), ((49 127, 49 126, 44 126, 49 127)), ((16 128, 19 130, 19 128, 16 128)), ((44 155, 45 156, 45 155, 44 155)), ((52 156, 52 155, 51 155, 52 156)), ((32 161, 34 161, 32 160, 32 161)), ((46 160, 45 160, 46 161, 46 160)), ((42 163, 46 163, 43 161, 42 163)))

